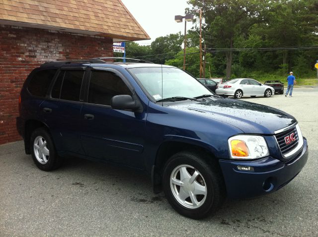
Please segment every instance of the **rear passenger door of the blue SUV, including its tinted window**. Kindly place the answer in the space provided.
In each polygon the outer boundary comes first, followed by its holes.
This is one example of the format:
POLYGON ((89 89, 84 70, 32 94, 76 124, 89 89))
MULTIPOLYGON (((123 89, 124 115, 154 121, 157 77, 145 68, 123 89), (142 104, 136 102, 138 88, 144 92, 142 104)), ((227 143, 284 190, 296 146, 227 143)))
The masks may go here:
POLYGON ((49 98, 40 106, 59 151, 84 154, 79 140, 84 75, 84 67, 62 68, 53 83, 49 98))

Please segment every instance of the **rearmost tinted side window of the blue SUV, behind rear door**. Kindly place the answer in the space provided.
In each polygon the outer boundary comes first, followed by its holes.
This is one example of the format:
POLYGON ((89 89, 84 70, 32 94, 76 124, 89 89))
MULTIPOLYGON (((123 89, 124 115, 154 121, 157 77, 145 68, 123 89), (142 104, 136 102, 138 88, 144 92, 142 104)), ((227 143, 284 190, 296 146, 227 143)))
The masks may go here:
POLYGON ((37 71, 28 84, 32 95, 45 97, 57 69, 37 71))

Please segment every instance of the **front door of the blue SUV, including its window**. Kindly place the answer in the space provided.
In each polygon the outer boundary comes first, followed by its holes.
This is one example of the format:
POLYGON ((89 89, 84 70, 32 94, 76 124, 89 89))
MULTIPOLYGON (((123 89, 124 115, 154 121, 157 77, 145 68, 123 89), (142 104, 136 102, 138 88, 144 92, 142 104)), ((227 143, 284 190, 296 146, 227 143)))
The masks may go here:
POLYGON ((87 84, 80 114, 80 138, 86 155, 143 168, 146 112, 114 110, 110 106, 115 95, 133 95, 128 80, 114 69, 92 69, 87 84))

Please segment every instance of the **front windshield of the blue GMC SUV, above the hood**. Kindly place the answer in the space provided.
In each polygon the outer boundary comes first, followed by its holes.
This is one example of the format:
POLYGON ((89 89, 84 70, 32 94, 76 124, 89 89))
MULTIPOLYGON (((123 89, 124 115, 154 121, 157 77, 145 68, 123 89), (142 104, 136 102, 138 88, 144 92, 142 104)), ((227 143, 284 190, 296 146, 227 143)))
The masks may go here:
POLYGON ((136 67, 128 70, 156 101, 171 97, 213 95, 197 79, 178 68, 136 67))

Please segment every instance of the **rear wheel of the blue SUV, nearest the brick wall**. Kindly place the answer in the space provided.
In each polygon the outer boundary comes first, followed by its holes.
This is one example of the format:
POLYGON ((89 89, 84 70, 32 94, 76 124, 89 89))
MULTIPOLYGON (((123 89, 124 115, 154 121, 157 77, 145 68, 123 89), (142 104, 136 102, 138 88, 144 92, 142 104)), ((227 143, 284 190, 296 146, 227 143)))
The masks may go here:
POLYGON ((35 165, 42 171, 52 171, 62 165, 63 159, 57 155, 51 135, 42 127, 37 128, 32 132, 30 138, 30 151, 35 165), (44 148, 40 148, 40 140, 45 142, 46 145, 44 148), (35 147, 35 143, 38 145, 38 149, 35 147), (41 152, 44 151, 45 148, 49 151, 48 155, 41 152), (43 158, 44 156, 45 158, 43 158))

